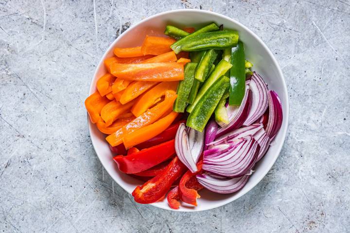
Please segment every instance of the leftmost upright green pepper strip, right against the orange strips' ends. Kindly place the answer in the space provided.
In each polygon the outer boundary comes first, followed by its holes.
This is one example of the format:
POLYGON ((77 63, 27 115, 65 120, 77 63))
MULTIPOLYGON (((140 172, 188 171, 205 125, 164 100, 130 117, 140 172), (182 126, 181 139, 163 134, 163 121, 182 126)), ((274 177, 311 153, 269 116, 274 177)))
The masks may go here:
POLYGON ((185 112, 185 108, 187 105, 187 100, 192 88, 193 80, 194 80, 194 72, 196 69, 197 63, 187 63, 184 69, 184 80, 180 81, 177 86, 177 99, 174 103, 174 111, 178 113, 185 112))

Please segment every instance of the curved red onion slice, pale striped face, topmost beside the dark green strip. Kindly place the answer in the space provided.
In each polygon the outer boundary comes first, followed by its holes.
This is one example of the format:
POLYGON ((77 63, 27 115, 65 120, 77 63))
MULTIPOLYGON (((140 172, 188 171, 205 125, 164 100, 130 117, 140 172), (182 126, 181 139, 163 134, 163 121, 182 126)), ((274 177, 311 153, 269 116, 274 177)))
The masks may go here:
POLYGON ((253 76, 249 83, 250 90, 252 91, 252 102, 248 116, 245 119, 243 125, 253 124, 262 114, 266 111, 268 106, 267 100, 267 85, 262 80, 262 77, 253 73, 253 76))

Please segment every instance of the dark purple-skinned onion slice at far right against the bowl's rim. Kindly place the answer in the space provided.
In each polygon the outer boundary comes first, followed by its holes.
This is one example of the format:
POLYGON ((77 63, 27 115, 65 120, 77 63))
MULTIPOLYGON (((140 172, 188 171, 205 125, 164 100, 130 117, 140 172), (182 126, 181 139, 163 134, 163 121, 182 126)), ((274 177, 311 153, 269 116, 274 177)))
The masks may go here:
POLYGON ((283 120, 282 105, 276 92, 268 92, 269 119, 266 126, 266 133, 271 138, 275 137, 280 130, 283 120))

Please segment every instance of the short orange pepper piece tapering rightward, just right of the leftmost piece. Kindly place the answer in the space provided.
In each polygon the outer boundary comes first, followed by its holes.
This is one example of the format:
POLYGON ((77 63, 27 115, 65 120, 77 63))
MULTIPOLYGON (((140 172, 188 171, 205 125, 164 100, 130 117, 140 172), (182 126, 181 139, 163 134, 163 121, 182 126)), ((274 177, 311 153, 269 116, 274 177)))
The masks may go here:
POLYGON ((105 126, 110 126, 113 121, 129 111, 133 104, 133 101, 127 104, 121 104, 117 100, 107 103, 101 110, 101 117, 105 121, 105 126))

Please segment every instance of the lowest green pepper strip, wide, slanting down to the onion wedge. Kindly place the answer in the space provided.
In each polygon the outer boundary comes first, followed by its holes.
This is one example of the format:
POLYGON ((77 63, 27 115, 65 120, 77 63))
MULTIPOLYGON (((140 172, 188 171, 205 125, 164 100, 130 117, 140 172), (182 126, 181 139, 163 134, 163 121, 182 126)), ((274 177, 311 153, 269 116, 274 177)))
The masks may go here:
MULTIPOLYGON (((204 83, 204 85, 205 84, 206 83, 204 83)), ((204 88, 204 85, 201 90, 204 88)), ((201 96, 201 99, 195 104, 194 109, 187 119, 187 126, 202 132, 228 85, 229 79, 226 76, 222 76, 212 83, 212 85, 210 85, 206 92, 201 96)), ((200 93, 198 93, 197 98, 199 94, 200 93)))

